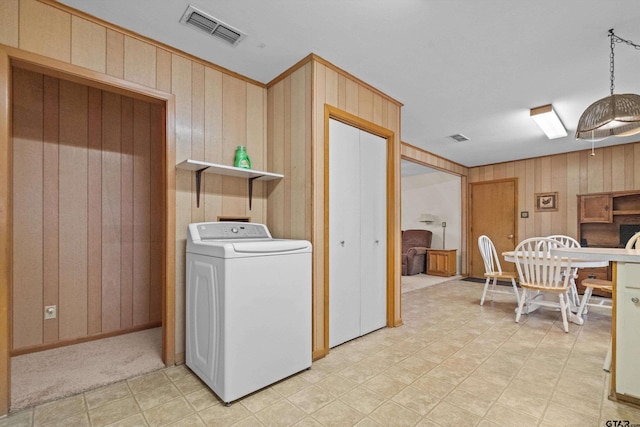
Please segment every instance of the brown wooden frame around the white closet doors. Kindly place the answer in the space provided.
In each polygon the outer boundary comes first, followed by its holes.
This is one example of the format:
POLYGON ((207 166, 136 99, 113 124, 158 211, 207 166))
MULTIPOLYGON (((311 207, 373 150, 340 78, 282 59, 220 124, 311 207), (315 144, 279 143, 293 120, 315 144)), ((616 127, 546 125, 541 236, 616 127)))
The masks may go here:
POLYGON ((344 124, 353 126, 365 132, 379 136, 387 140, 387 327, 400 326, 402 322, 396 322, 400 318, 400 313, 396 313, 396 292, 395 292, 395 276, 397 273, 396 258, 397 247, 395 245, 396 236, 394 223, 398 218, 397 210, 399 209, 394 203, 395 200, 395 181, 394 173, 396 172, 396 163, 399 163, 397 153, 394 150, 395 133, 387 128, 379 126, 368 120, 362 119, 354 114, 343 111, 339 108, 325 104, 324 126, 324 331, 325 343, 327 343, 327 352, 329 350, 329 120, 334 119, 344 124))

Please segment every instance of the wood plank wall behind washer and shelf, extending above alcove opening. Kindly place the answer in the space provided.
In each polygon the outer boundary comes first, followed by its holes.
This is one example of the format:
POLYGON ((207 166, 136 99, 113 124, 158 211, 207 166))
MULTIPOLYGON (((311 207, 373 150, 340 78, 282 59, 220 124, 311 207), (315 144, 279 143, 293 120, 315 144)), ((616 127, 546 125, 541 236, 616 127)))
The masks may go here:
MULTIPOLYGON (((256 169, 267 169, 266 87, 215 64, 89 17, 51 0, 0 1, 0 44, 154 88, 175 96, 176 161, 233 164, 247 146, 256 169)), ((185 242, 187 224, 218 216, 266 222, 267 190, 255 184, 249 210, 247 183, 207 174, 196 208, 195 177, 176 173, 175 348, 184 360, 185 242)))

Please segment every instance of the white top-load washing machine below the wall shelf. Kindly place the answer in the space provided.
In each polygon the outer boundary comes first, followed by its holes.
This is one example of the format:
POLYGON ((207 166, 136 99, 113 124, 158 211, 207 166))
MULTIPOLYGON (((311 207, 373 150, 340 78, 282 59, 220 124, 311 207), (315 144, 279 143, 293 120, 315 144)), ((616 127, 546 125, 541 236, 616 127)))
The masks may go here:
POLYGON ((311 366, 311 243, 263 224, 190 224, 186 363, 223 402, 311 366))

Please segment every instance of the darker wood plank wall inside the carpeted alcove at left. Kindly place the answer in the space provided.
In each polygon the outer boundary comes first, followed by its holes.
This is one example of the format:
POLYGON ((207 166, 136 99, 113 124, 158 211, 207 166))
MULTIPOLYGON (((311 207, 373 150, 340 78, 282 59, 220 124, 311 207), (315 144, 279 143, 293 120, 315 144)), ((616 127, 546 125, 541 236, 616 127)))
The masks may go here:
POLYGON ((12 83, 13 353, 158 324, 162 106, 20 68, 12 83))

